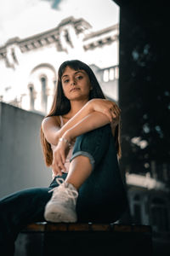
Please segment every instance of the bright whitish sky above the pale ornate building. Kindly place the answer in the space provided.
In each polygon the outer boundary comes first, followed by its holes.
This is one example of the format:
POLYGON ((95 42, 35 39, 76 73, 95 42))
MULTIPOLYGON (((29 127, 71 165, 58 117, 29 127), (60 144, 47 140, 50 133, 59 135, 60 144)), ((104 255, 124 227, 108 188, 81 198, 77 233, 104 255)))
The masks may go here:
POLYGON ((98 31, 119 23, 112 0, 0 0, 0 46, 58 26, 69 16, 84 18, 98 31))

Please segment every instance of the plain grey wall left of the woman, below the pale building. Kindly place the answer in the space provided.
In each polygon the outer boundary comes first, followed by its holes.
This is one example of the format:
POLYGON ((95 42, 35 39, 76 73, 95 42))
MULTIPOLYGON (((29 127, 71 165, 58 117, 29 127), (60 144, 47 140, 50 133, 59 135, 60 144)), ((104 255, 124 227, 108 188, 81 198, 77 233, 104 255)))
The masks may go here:
POLYGON ((42 118, 0 102, 0 197, 50 183, 40 143, 42 118))

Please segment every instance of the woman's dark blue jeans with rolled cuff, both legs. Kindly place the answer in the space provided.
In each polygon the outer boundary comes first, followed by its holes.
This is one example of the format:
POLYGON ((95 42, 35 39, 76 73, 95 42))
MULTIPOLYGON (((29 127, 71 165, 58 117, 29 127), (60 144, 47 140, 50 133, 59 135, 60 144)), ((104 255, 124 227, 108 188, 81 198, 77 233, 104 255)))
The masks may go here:
MULTIPOLYGON (((127 209, 127 193, 111 126, 105 125, 77 137, 71 160, 81 154, 89 158, 93 172, 79 189, 78 222, 113 223, 127 209)), ((63 173, 61 177, 65 179, 66 175, 63 173)), ((4 255, 14 254, 14 241, 26 224, 45 221, 44 207, 52 196, 48 191, 58 185, 54 178, 48 188, 24 189, 0 200, 1 253, 4 250, 4 255)))

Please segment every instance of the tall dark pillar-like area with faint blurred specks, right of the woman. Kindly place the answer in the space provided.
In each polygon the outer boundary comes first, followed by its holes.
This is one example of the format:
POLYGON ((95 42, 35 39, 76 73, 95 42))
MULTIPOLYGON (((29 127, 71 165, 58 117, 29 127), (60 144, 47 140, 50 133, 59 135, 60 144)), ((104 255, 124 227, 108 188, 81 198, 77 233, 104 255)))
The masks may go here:
POLYGON ((120 6, 122 171, 145 173, 151 161, 170 159, 167 7, 152 0, 114 2, 120 6), (133 137, 146 146, 132 143, 133 137))

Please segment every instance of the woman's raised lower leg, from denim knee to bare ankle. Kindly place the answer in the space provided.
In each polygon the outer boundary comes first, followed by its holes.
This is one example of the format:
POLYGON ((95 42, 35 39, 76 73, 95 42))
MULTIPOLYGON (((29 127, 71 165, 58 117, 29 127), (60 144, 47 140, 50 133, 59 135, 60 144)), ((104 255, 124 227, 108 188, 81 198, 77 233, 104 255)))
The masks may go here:
POLYGON ((80 189, 82 183, 90 176, 96 163, 103 158, 108 145, 107 138, 105 140, 105 136, 108 137, 109 135, 107 126, 105 125, 77 137, 65 182, 71 183, 77 189, 80 189))

